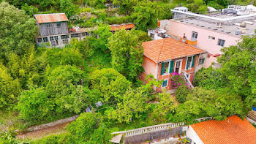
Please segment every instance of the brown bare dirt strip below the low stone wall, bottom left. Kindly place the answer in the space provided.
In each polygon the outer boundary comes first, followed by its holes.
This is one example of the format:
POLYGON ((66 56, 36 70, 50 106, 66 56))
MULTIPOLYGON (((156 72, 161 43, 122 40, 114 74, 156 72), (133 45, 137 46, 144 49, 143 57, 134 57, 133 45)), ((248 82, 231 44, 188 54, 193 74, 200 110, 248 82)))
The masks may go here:
POLYGON ((39 130, 36 130, 36 131, 33 131, 33 132, 27 132, 25 134, 18 134, 16 137, 18 139, 37 140, 37 139, 40 139, 42 137, 46 137, 50 134, 60 134, 60 133, 66 132, 65 127, 69 123, 71 123, 71 122, 64 123, 64 124, 58 124, 56 126, 50 126, 48 128, 39 129, 39 130))

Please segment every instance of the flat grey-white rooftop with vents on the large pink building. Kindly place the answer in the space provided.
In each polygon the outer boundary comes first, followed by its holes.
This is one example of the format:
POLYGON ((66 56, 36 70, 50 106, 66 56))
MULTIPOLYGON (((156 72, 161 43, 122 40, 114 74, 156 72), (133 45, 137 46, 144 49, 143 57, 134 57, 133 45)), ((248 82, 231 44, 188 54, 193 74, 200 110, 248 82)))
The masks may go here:
POLYGON ((235 15, 224 12, 199 15, 192 12, 172 11, 178 13, 178 15, 175 15, 174 21, 190 26, 231 34, 236 37, 255 34, 256 12, 251 12, 249 15, 235 15), (244 23, 246 23, 245 26, 244 23))

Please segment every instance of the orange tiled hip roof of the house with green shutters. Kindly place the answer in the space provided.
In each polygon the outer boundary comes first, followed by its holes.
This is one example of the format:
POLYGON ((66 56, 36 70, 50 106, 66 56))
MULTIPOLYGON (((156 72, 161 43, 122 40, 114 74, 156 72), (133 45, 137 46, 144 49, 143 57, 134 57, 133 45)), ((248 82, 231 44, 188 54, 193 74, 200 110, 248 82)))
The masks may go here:
POLYGON ((143 42, 142 45, 144 48, 144 55, 155 62, 206 53, 205 50, 195 48, 192 45, 188 45, 173 38, 143 42))

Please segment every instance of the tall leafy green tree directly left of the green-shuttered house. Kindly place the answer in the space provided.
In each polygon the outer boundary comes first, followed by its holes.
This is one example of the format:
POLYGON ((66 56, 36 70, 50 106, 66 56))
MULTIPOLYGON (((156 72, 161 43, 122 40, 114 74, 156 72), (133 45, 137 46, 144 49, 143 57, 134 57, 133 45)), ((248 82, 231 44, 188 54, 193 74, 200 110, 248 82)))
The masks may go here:
POLYGON ((135 83, 143 72, 143 48, 133 31, 122 29, 116 32, 108 39, 107 46, 111 51, 113 68, 135 83))

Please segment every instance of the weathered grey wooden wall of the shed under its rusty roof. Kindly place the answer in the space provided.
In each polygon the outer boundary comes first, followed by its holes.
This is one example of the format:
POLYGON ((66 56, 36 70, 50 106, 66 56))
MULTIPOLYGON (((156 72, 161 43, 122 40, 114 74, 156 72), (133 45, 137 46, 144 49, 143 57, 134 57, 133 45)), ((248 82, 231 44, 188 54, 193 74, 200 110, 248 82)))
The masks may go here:
POLYGON ((58 34, 68 34, 67 21, 57 23, 39 24, 40 36, 52 36, 58 34))

